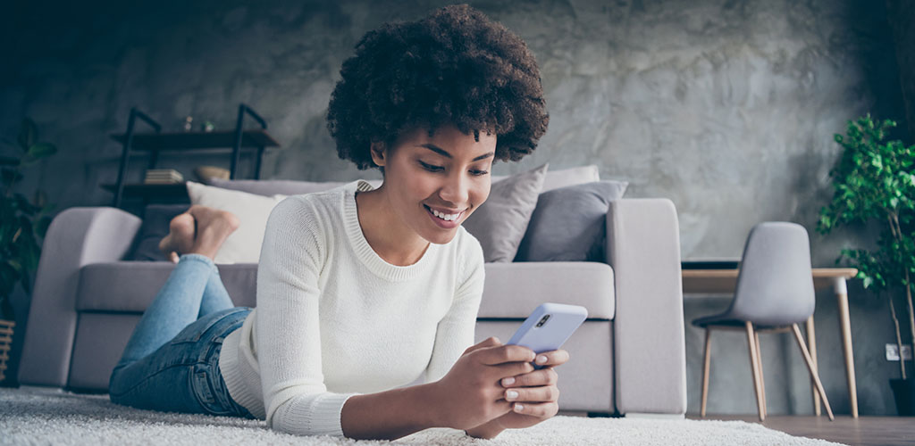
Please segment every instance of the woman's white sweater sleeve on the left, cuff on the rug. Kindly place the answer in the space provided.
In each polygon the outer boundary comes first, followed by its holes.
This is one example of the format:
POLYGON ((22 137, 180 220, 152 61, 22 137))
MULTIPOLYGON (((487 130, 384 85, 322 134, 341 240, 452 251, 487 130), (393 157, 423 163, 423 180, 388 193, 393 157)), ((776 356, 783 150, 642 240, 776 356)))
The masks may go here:
POLYGON ((326 233, 307 198, 274 207, 257 270, 255 320, 267 426, 298 435, 343 436, 340 413, 352 395, 328 392, 321 369, 318 276, 326 233))

